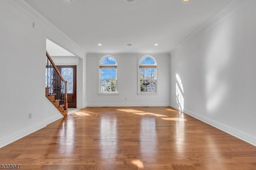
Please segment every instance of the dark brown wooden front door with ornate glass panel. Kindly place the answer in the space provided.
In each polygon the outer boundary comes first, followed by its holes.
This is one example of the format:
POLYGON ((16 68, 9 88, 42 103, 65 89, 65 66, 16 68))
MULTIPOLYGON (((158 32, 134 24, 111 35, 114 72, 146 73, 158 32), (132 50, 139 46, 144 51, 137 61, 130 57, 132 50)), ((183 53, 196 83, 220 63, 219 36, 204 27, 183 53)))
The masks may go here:
POLYGON ((68 108, 76 108, 76 65, 57 65, 67 81, 68 108))

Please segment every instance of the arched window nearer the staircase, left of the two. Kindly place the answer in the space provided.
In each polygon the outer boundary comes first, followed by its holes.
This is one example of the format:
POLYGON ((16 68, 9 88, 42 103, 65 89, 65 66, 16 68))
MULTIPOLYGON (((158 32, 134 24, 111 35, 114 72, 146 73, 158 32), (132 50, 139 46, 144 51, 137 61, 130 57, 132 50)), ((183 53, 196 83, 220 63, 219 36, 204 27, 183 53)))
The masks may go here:
POLYGON ((117 63, 112 56, 100 60, 100 93, 117 93, 117 63))

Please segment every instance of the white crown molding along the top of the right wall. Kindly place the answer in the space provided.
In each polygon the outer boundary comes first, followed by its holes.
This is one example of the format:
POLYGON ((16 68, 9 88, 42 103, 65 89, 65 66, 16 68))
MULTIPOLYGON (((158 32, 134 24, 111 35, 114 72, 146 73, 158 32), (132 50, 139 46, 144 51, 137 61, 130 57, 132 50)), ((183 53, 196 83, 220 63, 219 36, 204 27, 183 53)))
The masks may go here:
POLYGON ((232 12, 234 12, 234 10, 236 8, 238 8, 239 6, 241 6, 244 2, 245 2, 244 0, 233 0, 232 2, 230 2, 230 4, 228 4, 220 12, 218 12, 218 14, 216 14, 212 19, 208 20, 208 22, 206 22, 204 25, 202 25, 200 28, 198 28, 195 32, 193 32, 190 36, 188 36, 188 38, 183 40, 179 45, 177 45, 177 47, 172 49, 170 51, 170 54, 173 51, 175 51, 176 49, 178 49, 178 47, 190 42, 191 40, 193 40, 201 32, 203 32, 203 31, 207 30, 208 28, 211 28, 212 26, 222 22, 226 17, 228 17, 230 14, 232 14, 232 12))

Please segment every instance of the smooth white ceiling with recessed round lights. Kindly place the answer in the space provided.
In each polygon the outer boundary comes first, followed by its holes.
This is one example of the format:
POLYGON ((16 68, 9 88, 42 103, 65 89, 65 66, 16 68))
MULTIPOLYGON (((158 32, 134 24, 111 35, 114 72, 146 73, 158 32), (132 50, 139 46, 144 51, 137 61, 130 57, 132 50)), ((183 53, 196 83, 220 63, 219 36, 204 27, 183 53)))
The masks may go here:
POLYGON ((162 53, 170 52, 233 0, 25 1, 87 52, 162 53))

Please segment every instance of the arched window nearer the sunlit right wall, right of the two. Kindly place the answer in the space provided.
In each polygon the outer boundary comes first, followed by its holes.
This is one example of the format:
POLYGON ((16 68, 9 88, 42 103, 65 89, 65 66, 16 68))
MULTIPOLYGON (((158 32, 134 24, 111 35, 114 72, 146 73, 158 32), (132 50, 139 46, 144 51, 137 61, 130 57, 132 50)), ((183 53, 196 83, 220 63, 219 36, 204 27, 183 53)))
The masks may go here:
POLYGON ((139 93, 156 93, 156 60, 144 56, 139 63, 139 93))

